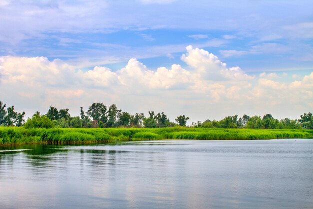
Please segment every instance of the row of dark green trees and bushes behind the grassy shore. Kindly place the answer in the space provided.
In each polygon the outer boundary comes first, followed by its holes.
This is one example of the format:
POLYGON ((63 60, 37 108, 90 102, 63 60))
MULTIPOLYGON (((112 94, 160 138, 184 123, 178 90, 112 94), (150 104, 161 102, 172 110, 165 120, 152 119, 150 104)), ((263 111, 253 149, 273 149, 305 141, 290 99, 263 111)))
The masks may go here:
MULTIPOLYGON (((103 103, 92 103, 88 110, 84 112, 80 107, 80 116, 70 116, 69 110, 59 109, 50 106, 46 114, 35 112, 31 118, 25 122, 25 112, 15 112, 14 106, 6 107, 0 101, 0 126, 24 126, 25 128, 111 128, 111 127, 137 127, 137 128, 162 128, 172 126, 186 126, 189 117, 179 115, 175 122, 171 122, 164 112, 155 114, 149 111, 145 117, 143 113, 123 112, 115 104, 105 106, 103 103)), ((205 120, 192 122, 192 127, 202 128, 258 128, 258 129, 313 129, 312 113, 304 113, 299 119, 285 118, 278 120, 271 114, 260 116, 243 115, 238 118, 237 115, 227 116, 219 121, 205 120)))

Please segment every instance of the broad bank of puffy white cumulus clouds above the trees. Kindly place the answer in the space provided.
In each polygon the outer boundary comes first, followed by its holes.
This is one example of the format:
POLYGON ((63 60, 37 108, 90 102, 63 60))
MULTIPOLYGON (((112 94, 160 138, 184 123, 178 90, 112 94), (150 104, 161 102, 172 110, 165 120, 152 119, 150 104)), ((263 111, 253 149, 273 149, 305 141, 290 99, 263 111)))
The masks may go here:
POLYGON ((80 106, 100 101, 130 113, 152 109, 171 120, 185 114, 202 121, 244 113, 298 117, 312 108, 313 73, 291 82, 274 80, 276 73, 255 77, 192 46, 181 60, 186 67, 153 70, 130 59, 117 71, 100 66, 86 71, 45 57, 0 57, 0 98, 17 110, 26 107, 22 110, 28 114, 54 105, 77 115, 80 106), (289 115, 290 109, 295 115, 289 115))

